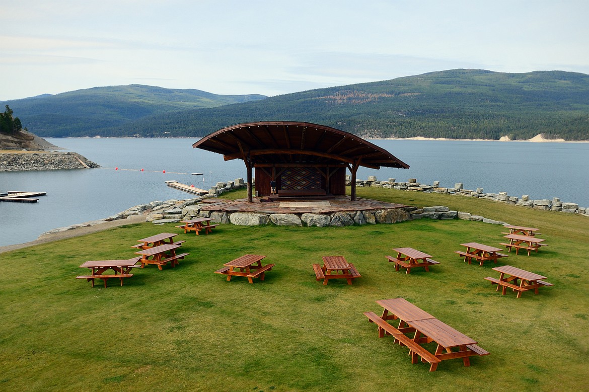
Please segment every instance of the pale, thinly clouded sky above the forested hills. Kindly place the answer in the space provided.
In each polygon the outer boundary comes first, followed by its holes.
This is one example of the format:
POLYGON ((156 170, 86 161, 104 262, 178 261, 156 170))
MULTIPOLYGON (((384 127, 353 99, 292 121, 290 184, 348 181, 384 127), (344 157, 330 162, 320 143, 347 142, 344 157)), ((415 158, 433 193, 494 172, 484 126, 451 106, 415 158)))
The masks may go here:
POLYGON ((587 0, 0 0, 0 100, 280 95, 455 68, 589 74, 587 0))

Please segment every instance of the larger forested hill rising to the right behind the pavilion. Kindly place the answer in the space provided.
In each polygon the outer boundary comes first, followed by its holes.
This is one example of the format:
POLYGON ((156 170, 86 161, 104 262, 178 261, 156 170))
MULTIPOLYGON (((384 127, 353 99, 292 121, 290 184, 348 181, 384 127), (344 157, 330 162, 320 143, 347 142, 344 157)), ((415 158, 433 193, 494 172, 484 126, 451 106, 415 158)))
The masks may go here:
POLYGON ((167 111, 108 128, 72 126, 67 132, 35 129, 16 105, 13 109, 24 126, 44 137, 201 137, 240 122, 276 120, 315 122, 363 137, 529 139, 542 133, 547 138, 589 140, 589 75, 454 69, 167 111))

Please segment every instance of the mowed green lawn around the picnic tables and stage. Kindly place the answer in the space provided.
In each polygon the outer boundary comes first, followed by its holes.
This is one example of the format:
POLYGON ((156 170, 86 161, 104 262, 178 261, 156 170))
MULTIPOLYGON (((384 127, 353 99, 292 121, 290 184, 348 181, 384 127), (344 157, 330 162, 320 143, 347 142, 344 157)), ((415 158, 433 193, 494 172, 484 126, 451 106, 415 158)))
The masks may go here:
MULTIPOLYGON (((498 246, 500 225, 407 221, 345 228, 239 227, 179 234, 190 255, 176 268, 136 268, 123 287, 94 288, 78 266, 130 258, 138 238, 173 224, 127 225, 0 254, 0 388, 3 391, 560 391, 589 388, 589 218, 452 195, 359 188, 359 197, 446 205, 541 229, 547 247, 509 264, 552 287, 516 298, 468 265, 462 242, 498 246), (413 247, 441 264, 395 273, 385 259, 413 247), (213 271, 243 254, 276 267, 266 280, 213 271), (362 278, 326 286, 311 264, 343 255, 362 278), (378 338, 362 314, 403 297, 491 354, 411 364, 408 349, 378 338)), ((223 197, 226 197, 224 195, 223 197)), ((243 197, 235 192, 228 197, 243 197)))

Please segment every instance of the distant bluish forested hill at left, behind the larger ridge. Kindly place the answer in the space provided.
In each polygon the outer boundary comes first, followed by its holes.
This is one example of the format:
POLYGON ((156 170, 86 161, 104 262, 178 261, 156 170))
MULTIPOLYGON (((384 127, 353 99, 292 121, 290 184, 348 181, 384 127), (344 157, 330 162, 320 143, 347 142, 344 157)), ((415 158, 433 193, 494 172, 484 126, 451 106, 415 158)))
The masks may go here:
POLYGON ((102 135, 102 129, 132 123, 151 115, 184 109, 256 101, 266 96, 217 95, 196 89, 170 89, 146 85, 94 87, 62 94, 0 102, 34 134, 44 137, 102 135))

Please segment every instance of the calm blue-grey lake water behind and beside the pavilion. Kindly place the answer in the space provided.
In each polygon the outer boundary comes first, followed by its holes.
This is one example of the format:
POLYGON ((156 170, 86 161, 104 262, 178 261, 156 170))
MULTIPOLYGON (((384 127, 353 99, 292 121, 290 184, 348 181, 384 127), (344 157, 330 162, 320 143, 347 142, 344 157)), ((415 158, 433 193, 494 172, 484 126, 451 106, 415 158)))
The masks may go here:
MULTIPOLYGON (((0 191, 44 191, 38 203, 0 202, 0 246, 35 240, 42 232, 106 218, 153 200, 190 198, 164 184, 177 180, 209 189, 246 178, 240 160, 192 148, 197 139, 48 139, 102 168, 0 173, 0 191), (114 170, 118 167, 119 170, 114 170), (141 169, 144 171, 140 171, 141 169), (163 173, 163 171, 166 173, 163 173), (204 175, 190 175, 202 172, 204 175)), ((442 187, 508 192, 532 199, 560 197, 589 206, 589 144, 479 141, 372 141, 408 163, 409 170, 360 168, 358 178, 417 178, 442 187)))

